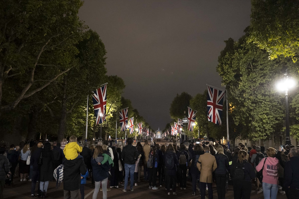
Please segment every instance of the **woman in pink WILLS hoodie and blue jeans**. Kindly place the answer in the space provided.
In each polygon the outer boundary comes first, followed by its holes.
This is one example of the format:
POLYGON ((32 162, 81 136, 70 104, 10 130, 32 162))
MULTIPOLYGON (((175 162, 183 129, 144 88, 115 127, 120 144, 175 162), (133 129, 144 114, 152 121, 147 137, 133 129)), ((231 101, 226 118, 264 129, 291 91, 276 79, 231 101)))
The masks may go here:
POLYGON ((270 147, 267 150, 267 158, 263 158, 256 166, 257 172, 259 172, 263 166, 263 192, 264 198, 276 199, 278 192, 278 168, 279 160, 275 158, 276 151, 270 147))

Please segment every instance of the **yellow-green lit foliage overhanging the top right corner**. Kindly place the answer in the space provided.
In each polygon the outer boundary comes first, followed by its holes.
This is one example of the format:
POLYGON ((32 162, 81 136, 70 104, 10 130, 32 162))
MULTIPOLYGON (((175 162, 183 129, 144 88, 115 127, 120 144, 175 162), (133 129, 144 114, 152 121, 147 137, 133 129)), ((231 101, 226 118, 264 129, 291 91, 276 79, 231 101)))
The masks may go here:
POLYGON ((250 37, 274 59, 279 55, 297 61, 299 53, 299 1, 252 0, 250 37))

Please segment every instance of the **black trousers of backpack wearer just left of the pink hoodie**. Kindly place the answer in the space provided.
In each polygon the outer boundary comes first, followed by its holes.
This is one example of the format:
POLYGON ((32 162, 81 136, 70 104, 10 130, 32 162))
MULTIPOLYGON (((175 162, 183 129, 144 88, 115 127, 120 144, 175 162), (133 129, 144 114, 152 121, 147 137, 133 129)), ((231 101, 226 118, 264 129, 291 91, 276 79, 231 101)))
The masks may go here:
POLYGON ((250 199, 251 182, 233 179, 234 199, 250 199))

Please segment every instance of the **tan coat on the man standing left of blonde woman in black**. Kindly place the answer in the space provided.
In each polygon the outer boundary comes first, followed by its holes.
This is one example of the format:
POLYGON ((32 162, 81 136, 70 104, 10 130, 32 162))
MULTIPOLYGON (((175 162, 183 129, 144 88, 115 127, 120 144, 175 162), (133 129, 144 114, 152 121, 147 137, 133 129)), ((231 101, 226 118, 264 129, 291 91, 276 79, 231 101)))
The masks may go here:
POLYGON ((216 159, 210 153, 204 153, 198 158, 196 166, 200 171, 200 182, 213 183, 212 172, 217 168, 216 159), (200 163, 198 163, 200 162, 200 163))

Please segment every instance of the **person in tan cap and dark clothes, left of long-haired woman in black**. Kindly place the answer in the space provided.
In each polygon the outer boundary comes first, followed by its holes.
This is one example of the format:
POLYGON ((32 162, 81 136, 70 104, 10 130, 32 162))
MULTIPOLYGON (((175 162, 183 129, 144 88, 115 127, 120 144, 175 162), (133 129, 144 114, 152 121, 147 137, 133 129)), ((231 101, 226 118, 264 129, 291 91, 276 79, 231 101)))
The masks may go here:
MULTIPOLYGON (((39 181, 40 178, 40 165, 38 164, 39 158, 41 158, 41 152, 42 152, 43 144, 39 142, 37 145, 34 145, 31 149, 31 156, 30 156, 30 166, 33 166, 32 169, 32 181, 31 181, 31 197, 35 197, 35 186, 36 182, 39 181)), ((39 189, 39 183, 38 183, 38 189, 37 189, 37 195, 41 195, 41 191, 39 189)))

